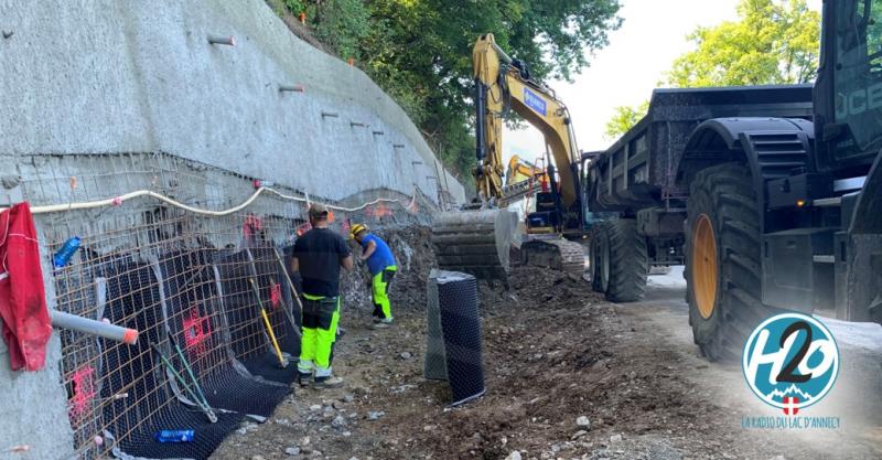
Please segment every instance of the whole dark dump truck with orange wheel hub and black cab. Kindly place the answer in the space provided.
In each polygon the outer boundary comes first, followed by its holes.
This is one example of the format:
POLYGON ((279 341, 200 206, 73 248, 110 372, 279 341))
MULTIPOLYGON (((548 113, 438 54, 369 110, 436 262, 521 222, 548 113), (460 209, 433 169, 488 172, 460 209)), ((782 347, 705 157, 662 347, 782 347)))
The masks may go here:
POLYGON ((736 357, 782 310, 882 322, 882 0, 826 1, 813 87, 656 90, 585 172, 595 290, 685 263, 695 342, 736 357))

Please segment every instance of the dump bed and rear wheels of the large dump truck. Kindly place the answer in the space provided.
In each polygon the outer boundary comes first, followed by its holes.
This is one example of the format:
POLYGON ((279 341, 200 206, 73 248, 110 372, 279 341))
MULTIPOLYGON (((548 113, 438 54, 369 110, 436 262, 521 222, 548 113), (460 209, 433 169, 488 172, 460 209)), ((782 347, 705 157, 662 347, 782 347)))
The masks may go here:
MULTIPOLYGON (((696 128, 710 119, 811 118, 811 86, 656 89, 647 115, 585 170, 588 207, 615 213, 591 232, 595 291, 611 301, 643 298, 652 267, 686 263, 689 190, 677 167, 696 128)), ((609 214, 607 214, 609 215, 609 214)))

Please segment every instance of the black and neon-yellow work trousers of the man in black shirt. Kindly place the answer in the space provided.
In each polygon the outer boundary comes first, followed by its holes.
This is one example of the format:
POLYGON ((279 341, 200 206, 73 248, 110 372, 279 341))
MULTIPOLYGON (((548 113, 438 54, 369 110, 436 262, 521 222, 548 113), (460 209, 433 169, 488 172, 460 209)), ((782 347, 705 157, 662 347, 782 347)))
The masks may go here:
POLYGON ((316 377, 331 375, 334 342, 340 322, 340 297, 303 293, 302 333, 298 371, 316 377))

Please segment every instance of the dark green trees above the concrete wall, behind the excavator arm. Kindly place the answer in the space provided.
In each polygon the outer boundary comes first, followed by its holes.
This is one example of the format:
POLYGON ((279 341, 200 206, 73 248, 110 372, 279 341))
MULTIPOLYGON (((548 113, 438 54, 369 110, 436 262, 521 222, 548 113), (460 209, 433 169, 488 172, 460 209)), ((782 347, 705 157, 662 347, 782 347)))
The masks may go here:
POLYGON ((492 32, 536 78, 571 78, 616 29, 619 0, 284 0, 304 3, 322 43, 356 63, 470 181, 472 46, 492 32))

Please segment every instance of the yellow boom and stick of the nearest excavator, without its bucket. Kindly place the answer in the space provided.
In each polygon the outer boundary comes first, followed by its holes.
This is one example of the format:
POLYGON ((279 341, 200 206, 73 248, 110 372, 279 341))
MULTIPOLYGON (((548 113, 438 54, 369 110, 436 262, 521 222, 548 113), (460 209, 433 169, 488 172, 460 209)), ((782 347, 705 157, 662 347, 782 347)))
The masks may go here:
POLYGON ((536 127, 560 175, 561 204, 571 207, 579 196, 578 147, 567 107, 553 92, 530 79, 526 65, 496 45, 493 34, 481 35, 472 51, 475 78, 477 191, 485 200, 505 200, 502 133, 506 113, 514 110, 536 127))

